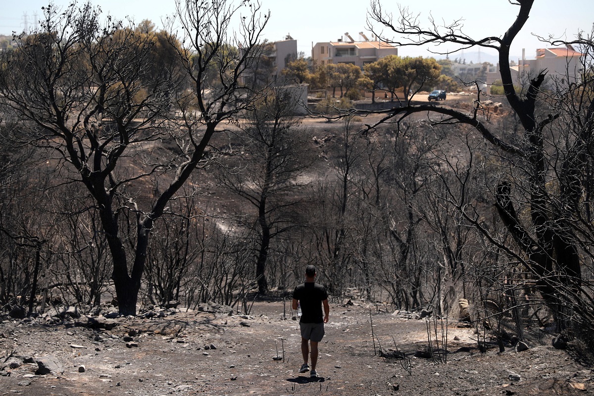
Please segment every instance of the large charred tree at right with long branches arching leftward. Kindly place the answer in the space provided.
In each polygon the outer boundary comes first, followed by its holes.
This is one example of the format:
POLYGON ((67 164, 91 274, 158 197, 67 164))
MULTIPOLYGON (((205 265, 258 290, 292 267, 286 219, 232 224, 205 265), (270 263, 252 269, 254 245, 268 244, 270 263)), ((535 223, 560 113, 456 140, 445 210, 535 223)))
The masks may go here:
MULTIPOLYGON (((534 278, 536 289, 554 313, 558 323, 586 325, 592 331, 594 299, 591 271, 594 236, 591 223, 592 196, 590 173, 594 157, 594 104, 589 62, 593 42, 579 36, 571 43, 580 45, 584 56, 581 75, 569 78, 552 91, 542 90, 546 71, 532 78, 525 90, 516 92, 509 66, 510 46, 529 17, 533 0, 510 1, 519 7, 516 20, 503 37, 473 39, 461 30, 460 21, 439 26, 421 27, 416 15, 400 8, 394 19, 374 0, 371 18, 401 39, 387 40, 396 45, 457 44, 463 48, 485 47, 497 50, 505 99, 517 119, 508 131, 497 131, 484 117, 481 93, 470 113, 451 107, 430 104, 386 110, 379 122, 399 122, 413 113, 429 113, 434 126, 463 124, 472 127, 488 142, 490 152, 498 156, 508 170, 493 191, 494 204, 513 243, 495 236, 476 210, 460 206, 470 224, 492 245, 517 262, 534 278), (570 320, 567 320, 570 319, 570 320)), ((560 42, 552 42, 558 44, 560 42)), ((373 128, 375 125, 371 125, 373 128)))

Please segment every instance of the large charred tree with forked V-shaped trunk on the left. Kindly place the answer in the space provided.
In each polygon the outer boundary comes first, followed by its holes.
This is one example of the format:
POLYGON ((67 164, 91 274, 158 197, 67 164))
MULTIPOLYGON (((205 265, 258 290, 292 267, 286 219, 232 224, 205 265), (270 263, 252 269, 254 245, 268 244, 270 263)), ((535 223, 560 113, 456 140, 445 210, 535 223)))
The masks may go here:
POLYGON ((5 138, 48 149, 61 181, 84 186, 108 242, 125 315, 136 312, 155 221, 206 159, 219 125, 249 106, 249 98, 236 104, 237 97, 256 96, 240 87, 239 77, 254 58, 267 15, 260 19, 258 6, 225 0, 187 0, 177 10, 185 36, 167 35, 176 56, 162 59, 156 74, 153 37, 103 20, 90 4, 46 7, 39 30, 15 37, 14 50, 0 55, 3 110, 21 125, 5 138), (231 23, 243 9, 235 34, 231 23), (234 40, 242 53, 220 56, 234 40), (210 65, 219 71, 216 89, 203 78, 210 65), (161 142, 177 150, 159 150, 161 142), (157 178, 159 186, 151 185, 157 178))

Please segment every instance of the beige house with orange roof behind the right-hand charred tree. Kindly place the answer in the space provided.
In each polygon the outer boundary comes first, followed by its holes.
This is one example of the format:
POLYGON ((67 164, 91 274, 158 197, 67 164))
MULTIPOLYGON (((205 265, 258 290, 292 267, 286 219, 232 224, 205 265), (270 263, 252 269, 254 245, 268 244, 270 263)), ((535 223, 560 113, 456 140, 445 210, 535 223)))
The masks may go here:
MULTIPOLYGON (((524 53, 522 50, 522 59, 518 59, 517 64, 513 61, 510 62, 511 77, 516 85, 526 83, 528 78, 535 78, 545 70, 545 86, 552 81, 564 84, 574 83, 579 80, 582 73, 580 58, 583 54, 577 52, 571 45, 537 49, 535 59, 525 59, 524 53)), ((501 80, 499 64, 497 64, 496 70, 489 71, 486 76, 486 83, 489 87, 497 80, 501 80)))

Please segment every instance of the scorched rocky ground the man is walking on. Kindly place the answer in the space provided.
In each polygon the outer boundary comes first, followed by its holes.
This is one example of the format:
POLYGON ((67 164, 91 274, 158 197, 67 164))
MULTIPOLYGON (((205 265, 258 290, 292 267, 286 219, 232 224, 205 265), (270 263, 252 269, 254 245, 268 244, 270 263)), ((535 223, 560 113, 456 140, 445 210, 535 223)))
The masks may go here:
POLYGON ((554 349, 549 336, 521 352, 508 344, 504 353, 480 353, 473 328, 444 322, 442 332, 441 321, 374 307, 372 326, 364 302, 331 304, 320 343, 322 378, 312 381, 298 373, 298 323, 289 313, 283 319, 282 302, 256 302, 249 316, 225 306, 201 309, 5 318, 0 395, 594 394, 592 369, 554 349), (447 333, 447 354, 424 353, 427 324, 440 349, 447 333), (375 351, 381 344, 387 357, 374 353, 372 328, 375 351))

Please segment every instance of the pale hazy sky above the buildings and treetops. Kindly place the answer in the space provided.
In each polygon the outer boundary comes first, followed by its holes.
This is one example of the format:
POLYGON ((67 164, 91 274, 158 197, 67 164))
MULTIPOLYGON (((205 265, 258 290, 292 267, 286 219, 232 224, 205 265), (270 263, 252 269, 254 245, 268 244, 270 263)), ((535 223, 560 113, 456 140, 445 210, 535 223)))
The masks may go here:
MULTIPOLYGON (((71 0, 55 0, 56 5, 66 5, 71 0)), ((29 25, 42 16, 41 7, 48 0, 0 0, 0 34, 11 34, 12 30, 22 31, 24 15, 29 25)), ((290 34, 297 40, 298 50, 311 54, 312 42, 336 41, 349 32, 359 39, 359 32, 366 30, 368 0, 262 0, 263 9, 270 9, 271 19, 264 31, 264 38, 270 41, 282 40, 290 34)), ((80 3, 80 1, 79 1, 80 3)), ((173 14, 174 0, 96 0, 103 12, 117 18, 132 17, 140 22, 150 19, 160 26, 163 16, 173 14)), ((398 5, 408 7, 411 12, 421 14, 421 21, 432 15, 437 22, 448 23, 454 19, 463 19, 464 31, 472 37, 501 36, 517 15, 519 6, 511 5, 508 0, 384 0, 386 11, 397 14, 398 5)), ((517 58, 526 49, 526 58, 532 59, 539 43, 532 34, 570 39, 578 30, 592 30, 594 22, 594 1, 592 0, 536 0, 530 18, 516 39, 511 54, 517 58)), ((386 37, 390 33, 384 31, 386 37)), ((368 34, 369 36, 369 34, 368 34)), ((449 48, 448 48, 449 49, 449 48)), ((453 49, 453 48, 451 48, 453 49)), ((488 51, 484 50, 485 53, 488 51)), ((405 47, 399 55, 429 55, 418 47, 405 47)), ((451 56, 455 58, 457 55, 451 56)))

